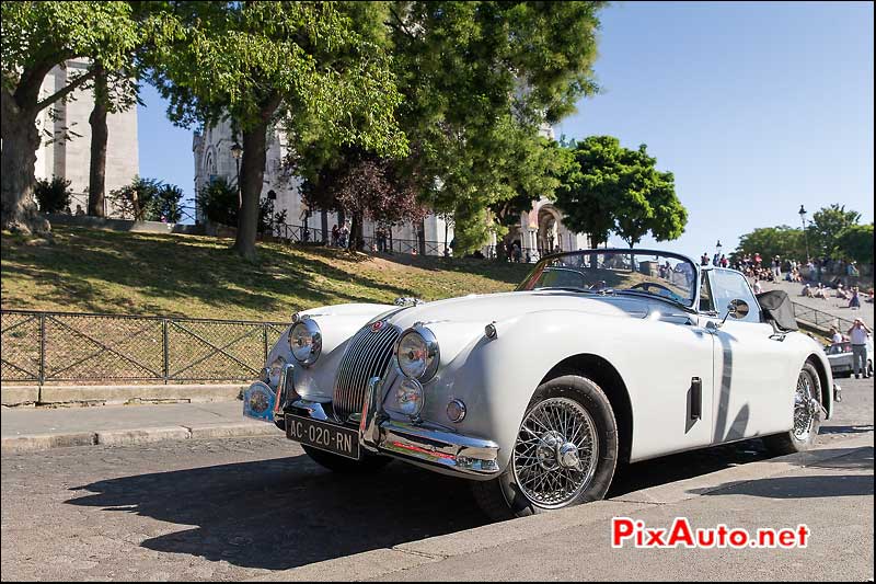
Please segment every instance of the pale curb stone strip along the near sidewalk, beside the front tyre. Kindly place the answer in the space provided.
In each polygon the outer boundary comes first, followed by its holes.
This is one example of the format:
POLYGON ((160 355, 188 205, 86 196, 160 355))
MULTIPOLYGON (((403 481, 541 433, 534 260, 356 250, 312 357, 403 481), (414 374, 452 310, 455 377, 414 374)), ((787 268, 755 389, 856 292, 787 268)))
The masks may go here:
POLYGON ((324 560, 273 572, 247 580, 247 582, 387 580, 393 573, 440 562, 449 558, 525 541, 532 537, 544 537, 570 527, 604 523, 613 516, 631 516, 643 508, 672 505, 704 496, 706 493, 782 474, 793 468, 817 466, 826 460, 849 456, 852 450, 862 448, 873 448, 872 434, 831 442, 807 453, 730 467, 708 474, 643 489, 608 501, 598 501, 560 512, 488 524, 474 529, 400 543, 392 548, 381 548, 324 560))

